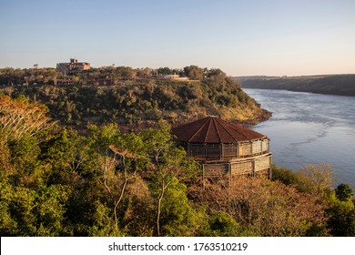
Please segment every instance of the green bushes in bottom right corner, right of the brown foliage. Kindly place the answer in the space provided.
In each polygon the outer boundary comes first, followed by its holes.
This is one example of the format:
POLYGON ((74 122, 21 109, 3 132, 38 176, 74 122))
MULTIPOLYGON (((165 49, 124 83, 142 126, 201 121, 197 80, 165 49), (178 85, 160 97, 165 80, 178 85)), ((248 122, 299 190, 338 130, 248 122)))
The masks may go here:
MULTIPOLYGON (((327 233, 337 237, 355 236, 355 197, 349 184, 341 183, 331 189, 329 165, 309 165, 299 172, 273 166, 273 180, 292 186, 301 193, 318 194, 325 202, 324 210, 327 233)), ((318 235, 319 229, 309 230, 310 235, 318 235)))

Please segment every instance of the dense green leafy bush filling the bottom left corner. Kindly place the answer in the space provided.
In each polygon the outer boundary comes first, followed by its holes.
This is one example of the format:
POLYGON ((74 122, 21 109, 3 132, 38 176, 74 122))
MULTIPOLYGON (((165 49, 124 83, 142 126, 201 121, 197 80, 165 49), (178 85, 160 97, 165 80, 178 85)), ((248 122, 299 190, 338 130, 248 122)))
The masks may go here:
POLYGON ((66 187, 16 187, 0 183, 1 236, 60 236, 68 199, 66 187))

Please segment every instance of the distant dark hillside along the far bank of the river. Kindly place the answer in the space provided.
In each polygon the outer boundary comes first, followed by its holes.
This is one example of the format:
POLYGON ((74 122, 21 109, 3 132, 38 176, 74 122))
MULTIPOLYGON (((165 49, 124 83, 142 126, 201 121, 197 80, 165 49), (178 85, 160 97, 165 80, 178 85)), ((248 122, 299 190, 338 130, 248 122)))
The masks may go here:
POLYGON ((245 88, 284 89, 299 92, 355 96, 355 75, 335 76, 240 76, 245 88))

